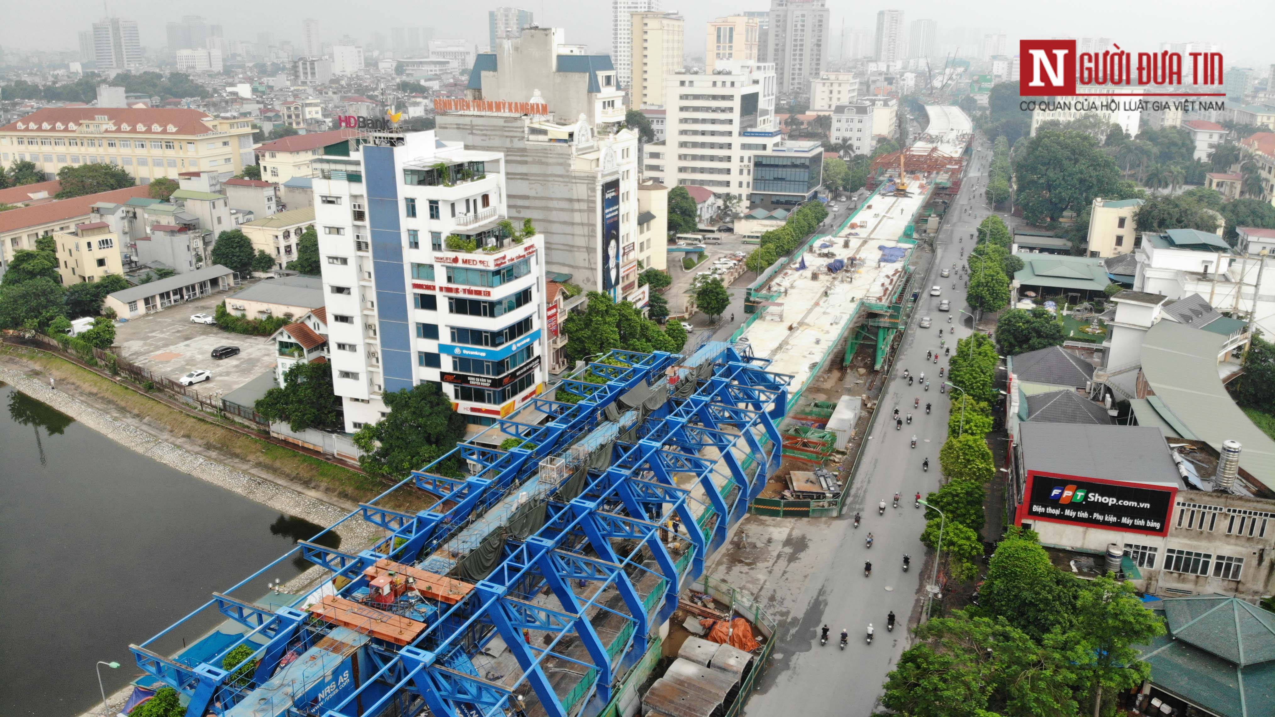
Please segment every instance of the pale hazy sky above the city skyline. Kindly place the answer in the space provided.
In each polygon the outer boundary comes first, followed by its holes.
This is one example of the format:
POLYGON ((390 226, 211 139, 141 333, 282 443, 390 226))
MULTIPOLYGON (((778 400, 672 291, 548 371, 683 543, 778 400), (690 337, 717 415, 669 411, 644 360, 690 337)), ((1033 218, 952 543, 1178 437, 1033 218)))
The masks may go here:
MULTIPOLYGON (((103 5, 94 0, 57 3, 4 3, 0 45, 14 48, 78 47, 78 32, 88 29, 102 15, 103 5)), ((564 27, 567 41, 606 51, 611 45, 609 0, 309 0, 306 3, 261 3, 222 0, 221 3, 180 3, 173 0, 129 0, 112 3, 113 13, 138 20, 142 42, 148 47, 166 43, 164 23, 184 14, 201 14, 221 23, 226 37, 255 41, 259 32, 279 38, 301 37, 306 17, 320 20, 325 40, 348 32, 365 41, 374 32, 386 37, 394 26, 433 27, 435 37, 464 37, 481 46, 487 43, 487 10, 497 5, 518 5, 532 10, 541 26, 564 27)), ((769 0, 663 0, 663 9, 686 17, 688 55, 704 52, 704 23, 714 17, 740 10, 765 10, 769 0)), ((1067 0, 1044 5, 1026 0, 938 1, 915 0, 908 4, 871 4, 829 0, 835 38, 844 20, 847 28, 872 32, 876 11, 903 9, 904 20, 929 18, 938 22, 940 40, 947 31, 972 28, 1005 32, 1011 41, 1020 37, 1111 37, 1126 50, 1156 50, 1160 42, 1218 42, 1224 46, 1228 64, 1266 66, 1275 63, 1275 3, 1271 0, 1067 0)), ((834 40, 833 56, 836 55, 834 40)))

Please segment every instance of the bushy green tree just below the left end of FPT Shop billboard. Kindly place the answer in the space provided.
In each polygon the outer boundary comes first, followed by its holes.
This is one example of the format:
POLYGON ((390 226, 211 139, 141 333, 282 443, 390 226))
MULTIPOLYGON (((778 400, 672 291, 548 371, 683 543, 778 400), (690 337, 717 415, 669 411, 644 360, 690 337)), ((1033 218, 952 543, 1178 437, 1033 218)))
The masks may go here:
POLYGON ((1074 624, 1076 593, 1076 579, 1053 566, 1035 533, 1010 528, 988 563, 979 606, 1040 640, 1074 624))

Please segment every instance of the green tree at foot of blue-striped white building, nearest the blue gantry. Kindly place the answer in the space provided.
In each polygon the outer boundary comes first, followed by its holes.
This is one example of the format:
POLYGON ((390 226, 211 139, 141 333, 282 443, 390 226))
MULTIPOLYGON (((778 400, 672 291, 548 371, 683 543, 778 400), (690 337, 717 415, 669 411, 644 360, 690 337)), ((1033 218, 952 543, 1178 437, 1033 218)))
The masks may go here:
POLYGON ((431 383, 385 393, 389 416, 363 426, 354 445, 358 463, 382 476, 405 476, 441 457, 465 435, 465 417, 451 410, 451 399, 431 383))

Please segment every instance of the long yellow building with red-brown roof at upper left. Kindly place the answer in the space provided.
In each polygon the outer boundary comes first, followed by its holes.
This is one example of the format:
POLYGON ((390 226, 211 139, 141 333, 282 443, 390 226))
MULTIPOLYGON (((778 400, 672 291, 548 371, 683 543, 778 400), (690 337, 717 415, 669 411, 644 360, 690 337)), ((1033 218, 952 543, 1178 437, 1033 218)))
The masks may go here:
POLYGON ((238 174, 251 156, 251 121, 203 110, 46 107, 0 128, 0 161, 34 162, 48 176, 66 166, 115 165, 148 184, 191 170, 238 174))

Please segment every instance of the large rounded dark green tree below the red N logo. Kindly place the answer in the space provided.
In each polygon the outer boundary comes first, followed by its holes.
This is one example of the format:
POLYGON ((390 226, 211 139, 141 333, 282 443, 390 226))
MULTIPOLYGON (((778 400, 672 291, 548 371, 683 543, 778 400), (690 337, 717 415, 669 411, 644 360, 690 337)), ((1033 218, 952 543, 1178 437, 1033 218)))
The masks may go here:
POLYGON ((1089 207, 1094 196, 1122 198, 1132 191, 1121 181, 1116 161, 1082 131, 1039 130, 1014 170, 1016 202, 1029 223, 1058 221, 1063 212, 1089 207))

